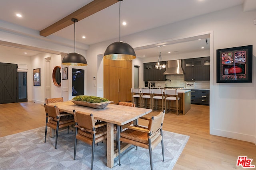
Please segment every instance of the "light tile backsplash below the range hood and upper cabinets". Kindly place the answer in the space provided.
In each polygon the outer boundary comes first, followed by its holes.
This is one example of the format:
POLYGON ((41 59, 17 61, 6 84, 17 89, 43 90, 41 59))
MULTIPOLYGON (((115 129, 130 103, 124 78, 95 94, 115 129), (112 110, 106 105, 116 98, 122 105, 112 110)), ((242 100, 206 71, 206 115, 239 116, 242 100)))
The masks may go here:
MULTIPOLYGON (((184 74, 178 75, 166 75, 166 81, 152 81, 155 82, 155 87, 186 87, 186 81, 184 81, 184 74)), ((149 81, 151 82, 151 81, 149 81)), ((195 81, 195 88, 210 89, 210 81, 195 81)))

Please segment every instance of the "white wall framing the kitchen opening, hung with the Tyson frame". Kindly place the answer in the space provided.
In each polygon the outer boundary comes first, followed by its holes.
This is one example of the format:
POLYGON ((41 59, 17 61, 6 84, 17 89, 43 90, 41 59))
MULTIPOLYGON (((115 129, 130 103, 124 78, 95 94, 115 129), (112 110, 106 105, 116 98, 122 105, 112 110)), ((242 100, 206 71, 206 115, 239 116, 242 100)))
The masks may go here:
MULTIPOLYGON (((210 133, 256 143, 255 17, 255 11, 243 12, 242 6, 236 6, 122 37, 122 41, 135 48, 210 33, 210 133), (244 45, 254 45, 253 82, 216 83, 216 49, 244 45)), ((97 55, 104 53, 114 41, 118 40, 90 45, 87 51, 89 75, 96 75, 97 55)), ((89 81, 86 84, 87 93, 95 95, 93 84, 89 81)))

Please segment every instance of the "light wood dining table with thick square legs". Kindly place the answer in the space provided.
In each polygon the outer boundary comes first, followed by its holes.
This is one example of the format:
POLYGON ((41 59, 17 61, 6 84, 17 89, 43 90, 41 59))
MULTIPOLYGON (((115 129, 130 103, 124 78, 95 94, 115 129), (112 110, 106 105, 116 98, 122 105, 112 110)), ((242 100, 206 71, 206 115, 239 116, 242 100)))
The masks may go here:
MULTIPOLYGON (((60 111, 72 114, 73 110, 92 113, 94 119, 105 121, 107 123, 107 166, 109 168, 114 166, 114 158, 118 156, 118 150, 114 150, 114 124, 120 126, 125 125, 126 123, 134 121, 152 111, 152 109, 116 104, 109 104, 104 109, 94 109, 91 107, 78 106, 71 101, 51 103, 47 105, 58 106, 60 111)), ((122 150, 125 150, 127 147, 128 146, 123 147, 122 150)))

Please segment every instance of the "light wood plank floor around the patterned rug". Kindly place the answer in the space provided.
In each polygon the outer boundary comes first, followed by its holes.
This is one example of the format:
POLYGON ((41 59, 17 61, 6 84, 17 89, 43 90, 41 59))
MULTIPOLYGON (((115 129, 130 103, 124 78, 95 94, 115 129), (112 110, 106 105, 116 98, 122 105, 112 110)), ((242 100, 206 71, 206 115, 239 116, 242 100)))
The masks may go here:
MULTIPOLYGON (((158 113, 153 111, 148 116, 158 113)), ((0 104, 0 115, 0 137, 45 126, 44 107, 33 102, 0 104)), ((174 170, 243 169, 236 166, 238 156, 248 156, 256 165, 254 143, 209 134, 209 106, 191 105, 186 115, 166 113, 163 126, 166 131, 190 136, 174 170)))

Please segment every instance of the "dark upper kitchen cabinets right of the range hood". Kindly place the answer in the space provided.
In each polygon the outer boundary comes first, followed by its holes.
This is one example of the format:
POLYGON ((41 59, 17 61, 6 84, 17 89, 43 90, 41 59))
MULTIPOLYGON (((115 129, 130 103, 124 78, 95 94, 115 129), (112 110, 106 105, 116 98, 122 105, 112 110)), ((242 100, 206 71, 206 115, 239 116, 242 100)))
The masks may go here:
POLYGON ((185 59, 185 81, 210 80, 210 57, 185 59))

